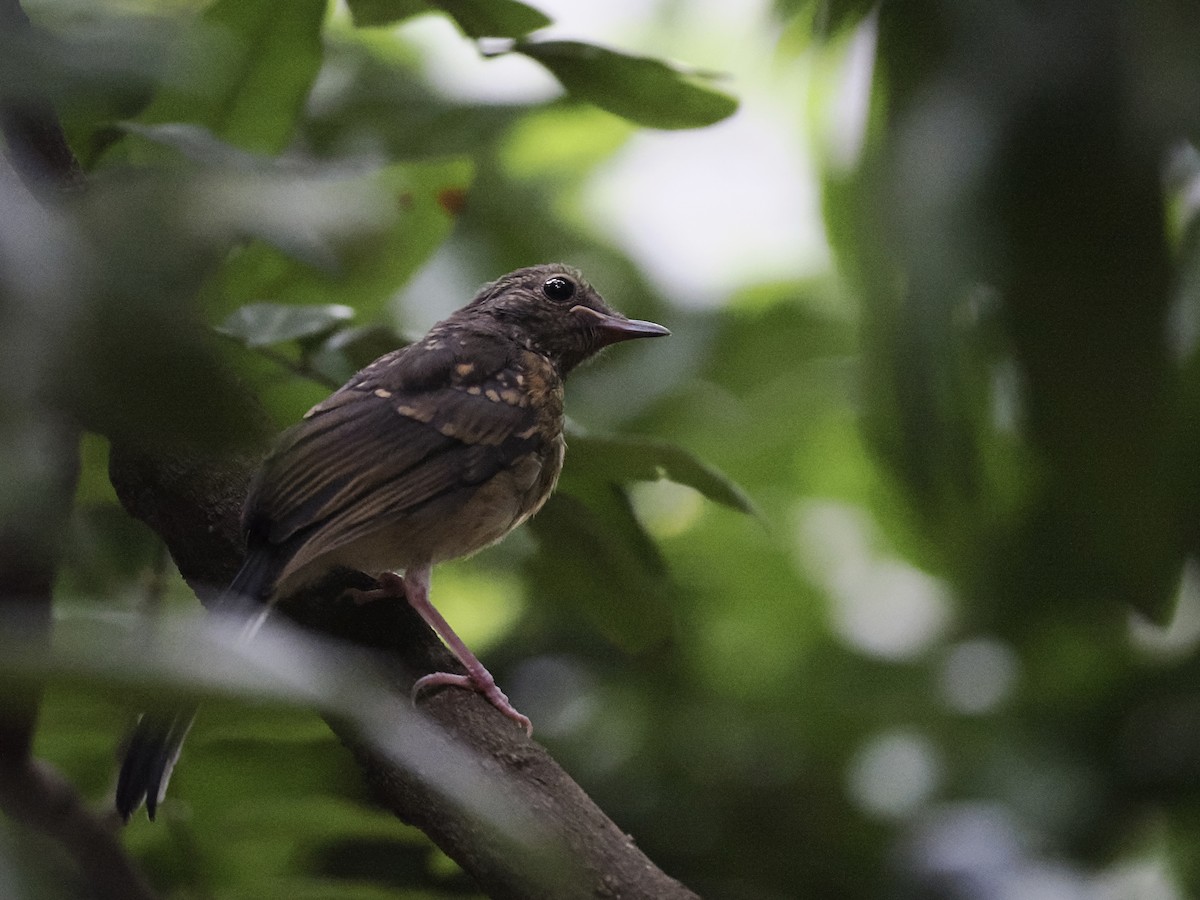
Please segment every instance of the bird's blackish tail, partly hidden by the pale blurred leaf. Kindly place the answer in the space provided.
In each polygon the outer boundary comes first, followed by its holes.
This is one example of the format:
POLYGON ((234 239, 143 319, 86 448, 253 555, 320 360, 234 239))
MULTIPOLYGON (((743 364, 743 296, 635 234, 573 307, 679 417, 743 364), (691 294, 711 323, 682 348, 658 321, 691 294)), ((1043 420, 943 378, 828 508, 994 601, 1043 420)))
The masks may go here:
MULTIPOLYGON (((266 553, 250 553, 238 575, 214 605, 214 612, 245 617, 257 629, 265 614, 266 592, 274 581, 275 566, 266 553), (256 602, 257 601, 257 602, 256 602), (262 612, 250 613, 250 608, 262 605, 262 612)), ((144 713, 130 736, 116 778, 116 811, 126 822, 145 802, 146 815, 152 820, 158 804, 167 793, 170 773, 184 749, 192 722, 196 720, 197 703, 187 703, 175 709, 144 713)))

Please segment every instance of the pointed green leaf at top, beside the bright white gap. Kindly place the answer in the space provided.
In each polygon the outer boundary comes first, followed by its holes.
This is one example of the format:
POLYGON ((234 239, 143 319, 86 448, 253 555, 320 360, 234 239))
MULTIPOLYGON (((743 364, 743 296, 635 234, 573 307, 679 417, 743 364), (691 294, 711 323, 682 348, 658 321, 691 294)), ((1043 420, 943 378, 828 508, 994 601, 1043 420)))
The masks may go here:
POLYGON ((649 56, 578 41, 522 42, 571 96, 650 128, 700 128, 733 114, 738 101, 713 86, 713 76, 649 56))

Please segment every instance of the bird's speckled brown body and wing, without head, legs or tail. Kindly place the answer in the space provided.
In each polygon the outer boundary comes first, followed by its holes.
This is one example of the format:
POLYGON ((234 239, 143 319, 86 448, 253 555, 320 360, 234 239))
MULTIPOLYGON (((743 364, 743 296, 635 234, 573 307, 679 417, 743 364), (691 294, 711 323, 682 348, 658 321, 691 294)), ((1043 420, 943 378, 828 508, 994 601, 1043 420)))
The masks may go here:
POLYGON ((373 572, 473 553, 550 496, 562 376, 496 335, 434 334, 313 407, 263 464, 245 526, 251 541, 295 545, 276 593, 331 564, 373 572), (412 384, 413 368, 427 386, 412 384))

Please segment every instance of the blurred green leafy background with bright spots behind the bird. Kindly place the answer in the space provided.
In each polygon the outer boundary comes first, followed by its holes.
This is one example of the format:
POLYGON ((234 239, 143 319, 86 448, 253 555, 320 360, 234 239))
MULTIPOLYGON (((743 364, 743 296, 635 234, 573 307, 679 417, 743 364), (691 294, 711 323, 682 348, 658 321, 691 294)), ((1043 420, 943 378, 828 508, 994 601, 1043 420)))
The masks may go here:
MULTIPOLYGON (((674 335, 572 379, 559 494, 434 595, 656 863, 739 900, 1200 894, 1192 7, 551 6, 30 0, 0 41, 91 180, 0 180, 6 520, 35 400, 88 427, 56 653, 7 654, 49 679, 37 754, 101 808, 188 684, 104 638, 197 607, 109 442, 235 449, 230 373, 282 427, 563 259, 674 335)), ((216 692, 125 832, 166 895, 474 895, 314 713, 216 692)), ((0 883, 73 895, 8 821, 0 883)))

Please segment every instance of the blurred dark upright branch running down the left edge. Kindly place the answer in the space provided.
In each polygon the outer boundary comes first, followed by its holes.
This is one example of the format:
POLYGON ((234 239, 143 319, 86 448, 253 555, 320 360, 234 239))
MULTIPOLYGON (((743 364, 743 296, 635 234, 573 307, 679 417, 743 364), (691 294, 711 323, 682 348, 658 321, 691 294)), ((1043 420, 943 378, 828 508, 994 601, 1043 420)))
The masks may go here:
MULTIPOLYGON (((28 29, 16 0, 0 2, 0 28, 28 29)), ((83 175, 49 103, 41 98, 0 102, 7 164, 0 170, 6 215, 0 220, 0 299, 4 306, 37 308, 47 298, 20 276, 23 226, 40 220, 35 194, 77 191, 83 175)), ((44 282, 42 282, 44 284, 44 282)), ((79 475, 79 428, 47 400, 38 370, 24 373, 24 392, 0 409, 0 455, 7 478, 0 496, 0 611, 6 640, 44 653, 62 535, 79 475)), ((41 702, 37 679, 5 679, 0 712, 0 806, 20 826, 54 838, 76 864, 91 895, 143 900, 154 894, 125 854, 115 821, 103 821, 53 768, 30 755, 41 702)))

